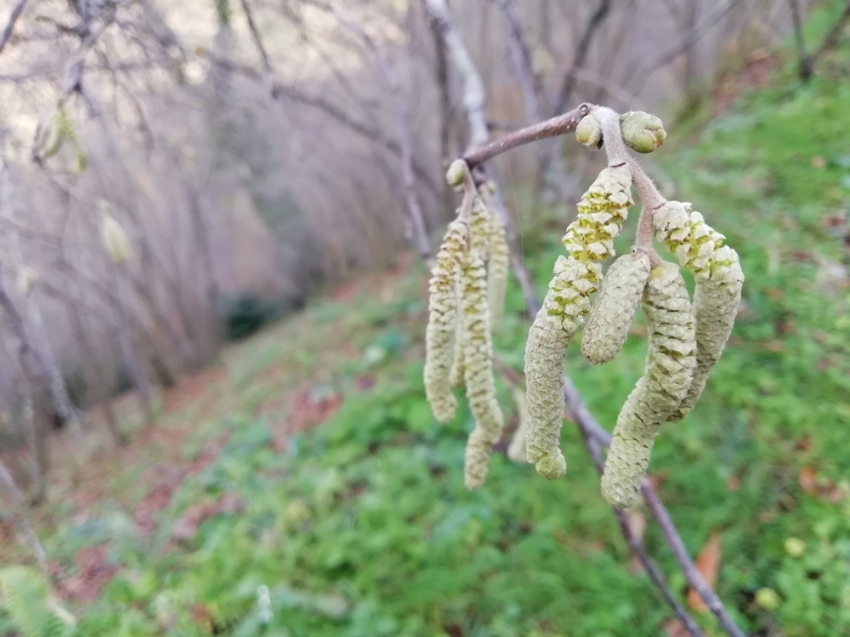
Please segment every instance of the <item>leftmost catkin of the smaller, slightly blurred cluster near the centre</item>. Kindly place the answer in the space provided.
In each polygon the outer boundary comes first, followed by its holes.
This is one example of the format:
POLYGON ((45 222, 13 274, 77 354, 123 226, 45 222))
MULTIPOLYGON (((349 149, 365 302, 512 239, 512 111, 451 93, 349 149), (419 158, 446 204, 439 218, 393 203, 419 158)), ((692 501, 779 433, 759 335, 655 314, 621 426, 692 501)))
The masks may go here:
POLYGON ((452 335, 458 314, 457 279, 466 253, 467 225, 460 219, 449 224, 428 284, 428 327, 425 331, 425 395, 441 423, 454 420, 457 400, 449 386, 452 335))

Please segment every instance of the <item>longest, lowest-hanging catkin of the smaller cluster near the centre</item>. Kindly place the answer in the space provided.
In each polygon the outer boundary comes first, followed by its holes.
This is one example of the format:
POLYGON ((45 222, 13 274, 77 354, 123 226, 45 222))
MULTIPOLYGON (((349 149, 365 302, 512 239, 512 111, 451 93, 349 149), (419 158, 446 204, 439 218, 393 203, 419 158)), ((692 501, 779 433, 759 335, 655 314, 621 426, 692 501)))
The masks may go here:
POLYGON ((487 477, 493 445, 502 435, 504 418, 496 400, 487 273, 481 253, 471 250, 461 261, 461 308, 464 317, 464 381, 475 429, 466 445, 464 482, 477 489, 487 477))

